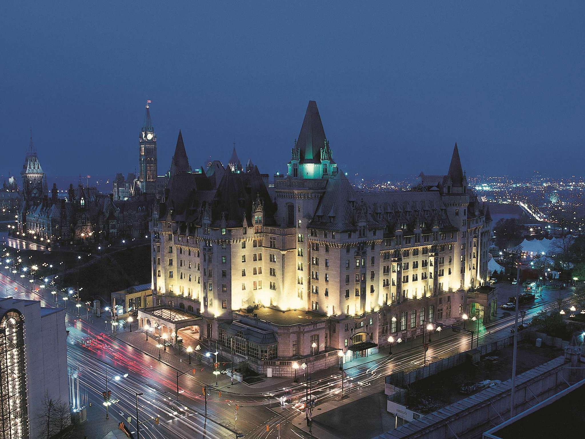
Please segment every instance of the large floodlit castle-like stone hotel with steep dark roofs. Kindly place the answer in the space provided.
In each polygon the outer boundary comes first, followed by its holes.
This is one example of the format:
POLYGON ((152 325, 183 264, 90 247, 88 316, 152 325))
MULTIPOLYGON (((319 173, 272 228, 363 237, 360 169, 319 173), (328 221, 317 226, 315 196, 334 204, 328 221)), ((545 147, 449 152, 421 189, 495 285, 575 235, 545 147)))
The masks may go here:
MULTIPOLYGON (((495 315, 487 276, 491 218, 467 185, 457 145, 448 172, 410 191, 359 191, 338 170, 309 102, 288 176, 257 167, 207 173, 183 163, 153 213, 152 312, 177 337, 195 326, 225 355, 290 376, 421 337, 429 322, 495 315), (160 309, 181 318, 163 318, 160 309), (183 322, 183 323, 181 323, 183 322)), ((210 346, 211 348, 211 346, 210 346)))

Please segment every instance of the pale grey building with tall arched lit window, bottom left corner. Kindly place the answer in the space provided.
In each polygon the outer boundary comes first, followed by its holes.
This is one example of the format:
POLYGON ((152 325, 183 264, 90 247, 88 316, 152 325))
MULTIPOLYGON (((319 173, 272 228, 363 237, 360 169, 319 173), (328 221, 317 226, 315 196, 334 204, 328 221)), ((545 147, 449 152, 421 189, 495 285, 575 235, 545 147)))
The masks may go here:
POLYGON ((67 331, 63 308, 0 299, 0 435, 42 437, 43 399, 68 403, 67 331))

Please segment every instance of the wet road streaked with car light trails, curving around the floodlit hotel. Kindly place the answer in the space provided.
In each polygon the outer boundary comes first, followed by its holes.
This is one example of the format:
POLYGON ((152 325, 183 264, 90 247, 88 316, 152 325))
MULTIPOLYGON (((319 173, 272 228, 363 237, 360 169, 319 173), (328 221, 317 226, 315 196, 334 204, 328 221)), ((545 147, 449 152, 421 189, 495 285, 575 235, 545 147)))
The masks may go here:
MULTIPOLYGON (((28 282, 26 277, 20 277, 0 268, 0 291, 9 296, 22 299, 40 300, 43 306, 55 306, 54 297, 50 289, 39 288, 39 284, 28 282), (6 274, 4 274, 6 273, 6 274)), ((58 297, 62 298, 60 290, 58 297)), ((524 321, 529 321, 539 311, 556 306, 556 293, 545 294, 544 299, 524 306, 526 314, 524 321)), ((4 294, 2 294, 3 296, 4 294)), ((63 301, 60 300, 61 304, 63 301)), ((71 301, 68 301, 71 302, 71 301)), ((149 438, 187 438, 235 437, 235 404, 238 410, 239 434, 252 438, 276 437, 276 424, 281 424, 281 437, 298 438, 308 437, 304 431, 292 426, 291 420, 301 413, 302 402, 307 393, 307 386, 302 382, 292 384, 271 393, 238 393, 225 392, 222 395, 216 390, 208 392, 207 419, 204 416, 205 402, 202 396, 201 382, 190 372, 185 365, 184 371, 189 371, 179 378, 179 395, 177 402, 177 369, 159 362, 156 358, 144 354, 118 339, 104 334, 103 320, 78 317, 74 303, 70 304, 67 313, 66 325, 70 331, 68 337, 68 362, 80 369, 81 382, 87 387, 90 400, 101 403, 102 392, 105 390, 106 373, 108 389, 112 392, 112 399, 119 400, 109 407, 111 417, 126 420, 132 416, 132 431, 136 429, 136 393, 143 393, 139 397, 140 419, 149 419, 159 416, 160 424, 149 421, 141 427, 143 437, 149 438), (95 323, 92 323, 92 320, 95 323), (123 375, 128 373, 126 378, 123 375), (120 380, 113 376, 122 376, 120 380), (122 413, 119 414, 119 413, 122 413), (266 424, 270 432, 266 431, 266 424)), ((468 322, 467 329, 472 329, 472 322, 468 322)), ((480 327, 480 343, 486 337, 501 337, 510 333, 514 325, 514 315, 500 318, 487 328, 480 327), (497 334, 496 334, 497 333, 497 334), (494 335, 495 334, 495 335, 494 335)), ((477 334, 474 346, 477 344, 477 334)), ((408 342, 408 345, 411 345, 408 342)), ((455 352, 462 352, 470 347, 470 335, 464 332, 459 334, 450 332, 432 342, 426 361, 445 358, 455 352)), ((349 363, 345 368, 343 383, 344 393, 348 395, 357 389, 365 389, 392 372, 417 368, 424 362, 424 351, 420 341, 415 341, 411 348, 408 346, 394 348, 393 356, 384 356, 358 366, 349 363)), ((181 371, 181 372, 184 372, 181 371)), ((212 387, 212 386, 211 386, 212 387)), ((323 375, 315 378, 311 393, 316 404, 326 400, 339 398, 341 392, 340 372, 323 375)), ((105 413, 104 413, 105 416, 105 413)), ((90 420, 91 421, 91 420, 90 420)))

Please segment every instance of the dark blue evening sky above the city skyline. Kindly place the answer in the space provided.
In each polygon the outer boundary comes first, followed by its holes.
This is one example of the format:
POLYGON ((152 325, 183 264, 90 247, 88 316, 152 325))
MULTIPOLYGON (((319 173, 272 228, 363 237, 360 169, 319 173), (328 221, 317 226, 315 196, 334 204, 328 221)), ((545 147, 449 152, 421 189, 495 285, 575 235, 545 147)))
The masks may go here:
POLYGON ((159 173, 183 130, 285 171, 309 100, 343 170, 583 175, 585 2, 5 2, 2 169, 29 126, 50 176, 137 167, 152 103, 159 173))

